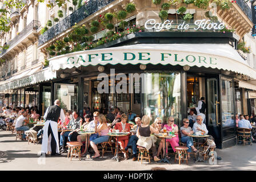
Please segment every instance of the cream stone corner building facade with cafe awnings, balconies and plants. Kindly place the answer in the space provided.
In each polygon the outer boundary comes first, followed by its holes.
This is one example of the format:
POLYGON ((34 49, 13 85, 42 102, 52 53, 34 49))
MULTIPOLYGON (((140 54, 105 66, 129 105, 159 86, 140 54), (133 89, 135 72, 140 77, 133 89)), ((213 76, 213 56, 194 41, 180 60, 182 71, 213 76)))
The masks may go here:
POLYGON ((235 114, 256 112, 250 3, 153 2, 27 2, 1 37, 10 44, 1 53, 2 105, 38 105, 42 114, 58 98, 79 113, 119 107, 181 126, 205 97, 209 133, 219 148, 234 145, 235 114))

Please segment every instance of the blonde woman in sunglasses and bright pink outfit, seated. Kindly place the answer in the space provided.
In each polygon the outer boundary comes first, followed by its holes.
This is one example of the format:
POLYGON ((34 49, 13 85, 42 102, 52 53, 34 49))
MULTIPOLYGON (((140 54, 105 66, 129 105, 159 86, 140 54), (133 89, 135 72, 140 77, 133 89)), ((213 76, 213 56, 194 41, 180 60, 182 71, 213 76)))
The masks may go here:
MULTIPOLYGON (((165 154, 165 151, 167 152, 167 150, 168 150, 169 143, 171 144, 171 148, 173 148, 174 152, 176 152, 176 149, 174 147, 179 145, 179 135, 178 135, 179 129, 178 129, 178 126, 174 124, 174 118, 169 117, 167 120, 167 123, 168 124, 164 125, 163 128, 166 127, 166 131, 174 130, 176 137, 173 137, 171 139, 166 139, 166 150, 165 150, 165 145, 163 144, 163 153, 164 154, 165 154)), ((169 158, 168 155, 166 155, 166 157, 169 158)))

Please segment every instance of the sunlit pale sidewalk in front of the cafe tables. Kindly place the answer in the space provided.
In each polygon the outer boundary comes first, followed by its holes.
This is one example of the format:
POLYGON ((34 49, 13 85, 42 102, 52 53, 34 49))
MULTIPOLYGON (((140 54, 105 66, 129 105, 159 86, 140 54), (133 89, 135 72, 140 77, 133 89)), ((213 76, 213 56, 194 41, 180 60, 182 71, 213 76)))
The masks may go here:
MULTIPOLYGON (((10 131, 0 131, 0 171, 15 171, 15 170, 101 170, 101 171, 115 171, 115 170, 150 170, 154 167, 161 167, 167 170, 244 170, 252 171, 256 168, 256 144, 252 146, 233 146, 223 150, 216 150, 218 156, 222 160, 217 160, 217 165, 210 165, 208 161, 194 163, 191 159, 189 164, 186 162, 181 165, 174 163, 174 156, 171 155, 171 164, 155 163, 143 161, 133 162, 133 160, 121 160, 117 162, 112 160, 113 155, 107 152, 103 158, 85 159, 81 161, 73 158, 66 158, 66 154, 61 156, 46 156, 42 158, 41 144, 27 144, 25 141, 15 140, 15 135, 10 131), (44 160, 45 159, 45 160, 44 160), (45 164, 43 164, 45 163, 45 164), (68 168, 67 168, 68 167, 68 168)), ((122 154, 119 154, 123 156, 122 154)))

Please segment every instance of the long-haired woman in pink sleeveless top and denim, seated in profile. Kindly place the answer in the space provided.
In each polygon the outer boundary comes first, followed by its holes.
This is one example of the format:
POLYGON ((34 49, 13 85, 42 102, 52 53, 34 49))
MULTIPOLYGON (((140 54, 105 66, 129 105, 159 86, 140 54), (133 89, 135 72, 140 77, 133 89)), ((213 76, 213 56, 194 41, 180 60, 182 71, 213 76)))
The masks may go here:
POLYGON ((100 156, 97 148, 97 144, 102 142, 107 142, 109 140, 109 136, 107 135, 107 133, 109 133, 109 128, 107 127, 105 116, 103 114, 99 114, 98 120, 99 120, 98 126, 97 126, 98 121, 97 120, 94 121, 95 132, 98 133, 98 137, 91 140, 90 142, 91 147, 93 147, 93 150, 95 152, 95 155, 92 158, 98 158, 100 156))

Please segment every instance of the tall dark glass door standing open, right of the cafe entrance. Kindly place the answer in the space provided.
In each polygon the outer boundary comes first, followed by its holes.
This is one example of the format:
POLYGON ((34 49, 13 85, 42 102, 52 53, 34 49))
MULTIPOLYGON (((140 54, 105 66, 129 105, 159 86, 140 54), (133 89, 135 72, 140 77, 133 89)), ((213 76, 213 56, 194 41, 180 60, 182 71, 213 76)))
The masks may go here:
POLYGON ((214 137, 215 143, 219 148, 221 147, 221 120, 217 78, 207 78, 206 93, 206 126, 209 130, 209 134, 214 137))

